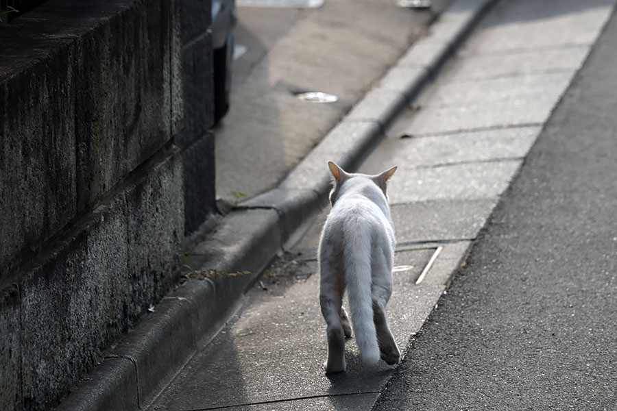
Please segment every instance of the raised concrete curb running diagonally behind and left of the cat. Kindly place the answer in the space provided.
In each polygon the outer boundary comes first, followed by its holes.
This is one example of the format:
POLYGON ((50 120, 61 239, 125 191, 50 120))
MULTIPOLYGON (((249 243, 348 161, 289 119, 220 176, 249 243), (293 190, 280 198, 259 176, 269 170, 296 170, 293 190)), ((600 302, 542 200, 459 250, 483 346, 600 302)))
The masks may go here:
MULTIPOLYGON (((431 25, 431 34, 415 42, 278 187, 225 216, 193 249, 189 264, 223 273, 261 272, 326 205, 326 162, 349 170, 359 166, 495 1, 455 0, 431 25)), ((221 275, 178 287, 56 409, 146 409, 241 307, 255 281, 255 275, 221 275)))

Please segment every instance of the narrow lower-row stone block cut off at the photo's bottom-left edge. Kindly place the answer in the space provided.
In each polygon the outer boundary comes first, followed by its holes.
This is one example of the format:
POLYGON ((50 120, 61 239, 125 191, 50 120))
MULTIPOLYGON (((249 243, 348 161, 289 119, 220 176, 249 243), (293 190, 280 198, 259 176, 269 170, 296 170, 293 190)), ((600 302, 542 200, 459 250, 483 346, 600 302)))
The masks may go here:
POLYGON ((21 410, 19 290, 0 291, 0 409, 21 410))

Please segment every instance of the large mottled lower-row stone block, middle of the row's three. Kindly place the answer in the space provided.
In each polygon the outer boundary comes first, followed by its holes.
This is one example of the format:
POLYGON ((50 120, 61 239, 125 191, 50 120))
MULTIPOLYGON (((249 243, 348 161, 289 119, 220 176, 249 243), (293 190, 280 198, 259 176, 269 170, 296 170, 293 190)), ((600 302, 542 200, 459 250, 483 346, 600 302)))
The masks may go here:
POLYGON ((128 328, 126 219, 101 206, 22 279, 25 405, 53 406, 128 328))

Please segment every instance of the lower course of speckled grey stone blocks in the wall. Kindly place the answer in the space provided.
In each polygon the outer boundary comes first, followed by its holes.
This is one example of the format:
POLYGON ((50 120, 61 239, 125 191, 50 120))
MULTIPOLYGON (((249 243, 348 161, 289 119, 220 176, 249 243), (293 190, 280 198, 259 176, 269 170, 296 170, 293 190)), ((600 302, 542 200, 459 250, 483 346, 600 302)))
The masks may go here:
MULTIPOLYGON (((8 370, 20 378, 21 369, 28 406, 53 405, 176 282, 182 198, 180 154, 160 155, 20 277, 21 315, 19 303, 10 312, 3 303, 0 319, 21 321, 21 359, 8 370)), ((10 341, 1 347, 14 351, 10 341)), ((3 386, 14 379, 1 377, 3 386)))

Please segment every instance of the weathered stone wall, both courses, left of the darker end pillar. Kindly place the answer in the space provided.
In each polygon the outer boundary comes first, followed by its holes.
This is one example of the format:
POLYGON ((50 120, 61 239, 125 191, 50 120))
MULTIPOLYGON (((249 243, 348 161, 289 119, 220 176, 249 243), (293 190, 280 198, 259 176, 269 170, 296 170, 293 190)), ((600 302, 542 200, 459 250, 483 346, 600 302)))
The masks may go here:
POLYGON ((49 0, 0 28, 0 410, 53 406, 178 279, 181 27, 49 0))

